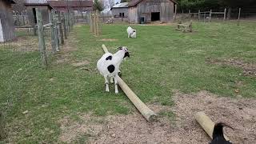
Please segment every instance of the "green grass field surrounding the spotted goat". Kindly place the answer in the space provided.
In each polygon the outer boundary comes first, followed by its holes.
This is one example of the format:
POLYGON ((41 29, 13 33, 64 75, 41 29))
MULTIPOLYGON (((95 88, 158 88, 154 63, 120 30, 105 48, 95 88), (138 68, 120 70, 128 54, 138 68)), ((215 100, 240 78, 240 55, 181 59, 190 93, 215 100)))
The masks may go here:
POLYGON ((110 93, 104 91, 104 78, 95 70, 103 43, 111 52, 118 46, 129 48, 130 58, 121 66, 122 78, 143 102, 172 106, 175 91, 200 90, 223 97, 256 98, 256 76, 245 76, 238 66, 207 62, 209 58, 238 58, 255 64, 255 25, 195 22, 193 33, 174 30, 175 26, 134 25, 135 39, 127 38, 128 25, 103 25, 99 37, 89 33, 89 26, 75 26, 71 50, 50 58, 47 70, 42 69, 38 51, 0 48, 0 106, 9 132, 3 142, 58 142, 59 120, 66 116, 79 121, 78 115, 84 113, 136 112, 122 90, 114 94, 111 85, 110 93), (86 65, 74 66, 85 61, 86 65))

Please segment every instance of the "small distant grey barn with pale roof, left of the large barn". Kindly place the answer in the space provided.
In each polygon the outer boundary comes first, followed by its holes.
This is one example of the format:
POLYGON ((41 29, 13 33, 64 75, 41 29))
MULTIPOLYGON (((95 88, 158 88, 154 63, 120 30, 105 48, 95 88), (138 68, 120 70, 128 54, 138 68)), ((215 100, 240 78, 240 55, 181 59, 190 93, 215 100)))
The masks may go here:
POLYGON ((127 18, 128 17, 128 4, 129 2, 122 2, 111 7, 112 15, 114 18, 127 18))

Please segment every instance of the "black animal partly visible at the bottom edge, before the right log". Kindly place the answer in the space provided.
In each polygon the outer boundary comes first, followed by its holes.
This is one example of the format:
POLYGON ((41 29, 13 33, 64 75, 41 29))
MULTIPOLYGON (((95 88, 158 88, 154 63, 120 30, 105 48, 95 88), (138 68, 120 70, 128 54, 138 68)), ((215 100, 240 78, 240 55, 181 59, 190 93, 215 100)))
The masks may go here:
MULTIPOLYGON (((223 127, 227 126, 225 123, 219 122, 214 126, 213 140, 210 144, 232 144, 230 141, 226 141, 223 135, 223 127)), ((230 126, 227 126, 230 127, 230 126)), ((233 128, 230 127, 232 130, 233 128)))

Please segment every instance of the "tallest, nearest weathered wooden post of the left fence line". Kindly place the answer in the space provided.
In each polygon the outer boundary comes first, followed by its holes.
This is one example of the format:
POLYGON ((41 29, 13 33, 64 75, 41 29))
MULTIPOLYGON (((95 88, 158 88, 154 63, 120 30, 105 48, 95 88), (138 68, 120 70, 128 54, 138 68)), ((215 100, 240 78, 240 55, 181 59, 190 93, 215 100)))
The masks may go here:
POLYGON ((36 8, 35 10, 36 10, 37 22, 38 22, 39 50, 40 50, 40 54, 41 54, 41 58, 42 58, 42 64, 44 66, 47 66, 48 63, 47 63, 47 55, 46 55, 46 42, 45 42, 45 38, 43 36, 42 14, 38 10, 38 8, 36 8))

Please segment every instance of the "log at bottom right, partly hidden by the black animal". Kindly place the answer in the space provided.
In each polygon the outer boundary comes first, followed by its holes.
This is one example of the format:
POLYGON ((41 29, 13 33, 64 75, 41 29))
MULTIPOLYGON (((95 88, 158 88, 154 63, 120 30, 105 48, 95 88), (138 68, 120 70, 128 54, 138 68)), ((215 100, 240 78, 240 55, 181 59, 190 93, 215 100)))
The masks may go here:
MULTIPOLYGON (((212 139, 215 123, 202 111, 195 114, 195 119, 200 124, 200 126, 202 126, 202 129, 206 131, 206 134, 208 134, 212 139)), ((227 141, 230 140, 230 138, 228 138, 225 134, 224 138, 226 138, 227 141)))

